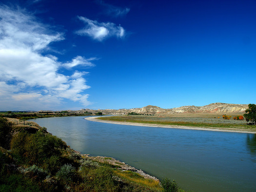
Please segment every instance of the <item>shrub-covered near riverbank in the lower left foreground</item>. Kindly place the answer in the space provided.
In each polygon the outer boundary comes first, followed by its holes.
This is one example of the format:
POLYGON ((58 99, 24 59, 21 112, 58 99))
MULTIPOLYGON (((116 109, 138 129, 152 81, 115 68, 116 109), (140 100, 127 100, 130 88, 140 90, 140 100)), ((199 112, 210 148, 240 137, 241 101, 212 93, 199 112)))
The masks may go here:
MULTIPOLYGON (((158 180, 70 149, 35 123, 0 117, 0 191, 160 192, 158 180)), ((163 185, 163 184, 162 184, 163 185)), ((164 185, 163 185, 164 186, 164 185)))

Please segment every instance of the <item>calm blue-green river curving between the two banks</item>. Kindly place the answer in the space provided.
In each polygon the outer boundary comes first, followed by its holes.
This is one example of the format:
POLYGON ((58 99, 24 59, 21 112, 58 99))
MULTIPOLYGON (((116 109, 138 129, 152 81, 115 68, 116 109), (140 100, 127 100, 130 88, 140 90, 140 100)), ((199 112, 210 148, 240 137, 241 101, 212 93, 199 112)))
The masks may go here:
POLYGON ((117 125, 86 116, 32 121, 91 156, 111 156, 195 192, 255 192, 256 134, 117 125))

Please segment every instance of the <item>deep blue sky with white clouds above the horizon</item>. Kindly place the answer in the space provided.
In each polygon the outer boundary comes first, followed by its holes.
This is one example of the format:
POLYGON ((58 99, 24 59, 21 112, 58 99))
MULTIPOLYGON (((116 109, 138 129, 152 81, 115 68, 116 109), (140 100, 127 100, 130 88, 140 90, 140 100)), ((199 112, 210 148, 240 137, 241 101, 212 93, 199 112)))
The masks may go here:
POLYGON ((0 111, 256 102, 256 0, 0 0, 0 111))

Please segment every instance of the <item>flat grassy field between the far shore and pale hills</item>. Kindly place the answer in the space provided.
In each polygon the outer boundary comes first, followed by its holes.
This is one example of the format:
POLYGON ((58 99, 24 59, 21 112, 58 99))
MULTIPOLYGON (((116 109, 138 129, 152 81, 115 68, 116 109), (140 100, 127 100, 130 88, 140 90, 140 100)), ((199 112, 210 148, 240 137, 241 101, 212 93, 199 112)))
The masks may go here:
MULTIPOLYGON (((234 115, 235 116, 235 115, 234 115)), ((230 131, 248 131, 256 132, 256 125, 247 125, 245 120, 223 119, 222 115, 202 115, 202 114, 184 114, 184 115, 121 115, 121 116, 105 116, 98 117, 101 120, 109 120, 116 122, 141 123, 158 126, 185 126, 199 127, 206 129, 220 129, 230 131)))

